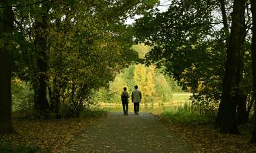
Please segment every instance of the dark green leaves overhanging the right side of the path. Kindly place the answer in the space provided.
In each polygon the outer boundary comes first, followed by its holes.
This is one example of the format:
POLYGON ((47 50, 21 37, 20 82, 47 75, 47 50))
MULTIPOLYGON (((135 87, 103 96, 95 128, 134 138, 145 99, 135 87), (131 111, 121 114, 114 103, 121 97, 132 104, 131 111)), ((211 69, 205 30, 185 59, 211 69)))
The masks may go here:
MULTIPOLYGON (((227 10, 231 10, 231 6, 228 1, 227 10)), ((251 14, 246 16, 250 27, 251 14)), ((136 42, 152 46, 144 63, 154 63, 184 90, 195 93, 193 103, 211 105, 221 99, 227 50, 221 18, 219 1, 171 1, 166 12, 152 10, 134 25, 136 42)), ((227 12, 228 24, 231 24, 230 18, 227 12)), ((246 37, 249 38, 250 33, 246 37)), ((252 91, 250 46, 245 41, 242 48, 240 88, 246 95, 252 91)))

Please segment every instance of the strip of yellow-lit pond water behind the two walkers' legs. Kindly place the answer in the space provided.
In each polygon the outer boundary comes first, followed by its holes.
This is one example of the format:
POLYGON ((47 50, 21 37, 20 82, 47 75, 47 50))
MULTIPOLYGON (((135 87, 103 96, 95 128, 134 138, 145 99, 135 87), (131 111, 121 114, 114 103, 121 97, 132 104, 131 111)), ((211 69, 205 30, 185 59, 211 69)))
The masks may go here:
MULTIPOLYGON (((184 103, 180 105, 154 105, 154 106, 145 106, 140 105, 139 112, 150 112, 152 114, 161 114, 162 112, 175 112, 178 107, 181 107, 184 103)), ((122 105, 104 105, 101 106, 102 109, 108 112, 123 112, 122 105)), ((133 114, 133 103, 129 103, 129 114, 133 114)))

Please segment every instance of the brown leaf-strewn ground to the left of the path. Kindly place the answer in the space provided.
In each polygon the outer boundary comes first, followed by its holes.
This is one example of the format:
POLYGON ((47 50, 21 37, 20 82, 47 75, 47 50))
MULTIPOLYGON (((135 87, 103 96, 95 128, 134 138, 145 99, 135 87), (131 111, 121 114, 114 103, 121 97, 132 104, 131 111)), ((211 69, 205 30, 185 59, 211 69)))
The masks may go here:
POLYGON ((106 116, 106 112, 89 112, 80 118, 50 120, 16 116, 12 120, 16 133, 0 135, 0 152, 63 152, 70 139, 103 116, 106 116))

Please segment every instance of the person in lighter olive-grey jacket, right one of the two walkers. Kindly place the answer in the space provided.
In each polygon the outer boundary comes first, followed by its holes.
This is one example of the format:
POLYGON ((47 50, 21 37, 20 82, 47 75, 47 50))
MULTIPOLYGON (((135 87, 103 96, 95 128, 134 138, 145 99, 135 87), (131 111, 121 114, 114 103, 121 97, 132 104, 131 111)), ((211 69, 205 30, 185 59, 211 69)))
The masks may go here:
POLYGON ((139 103, 141 102, 142 95, 141 91, 138 89, 138 86, 134 86, 134 90, 132 91, 132 103, 134 107, 134 114, 139 115, 139 103))

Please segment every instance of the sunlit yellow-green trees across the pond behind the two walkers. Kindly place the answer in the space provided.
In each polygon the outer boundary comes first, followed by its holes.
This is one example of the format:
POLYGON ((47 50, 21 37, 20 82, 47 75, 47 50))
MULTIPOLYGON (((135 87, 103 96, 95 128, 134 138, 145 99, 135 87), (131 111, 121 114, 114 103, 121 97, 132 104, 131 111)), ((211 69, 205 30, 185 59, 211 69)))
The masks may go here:
POLYGON ((95 93, 93 101, 98 103, 119 103, 124 86, 131 93, 134 85, 137 84, 142 92, 142 103, 151 105, 152 103, 169 102, 171 100, 171 93, 174 90, 171 90, 171 86, 166 78, 166 76, 157 73, 152 65, 150 67, 132 65, 117 75, 113 82, 109 82, 109 88, 100 88, 95 93))

